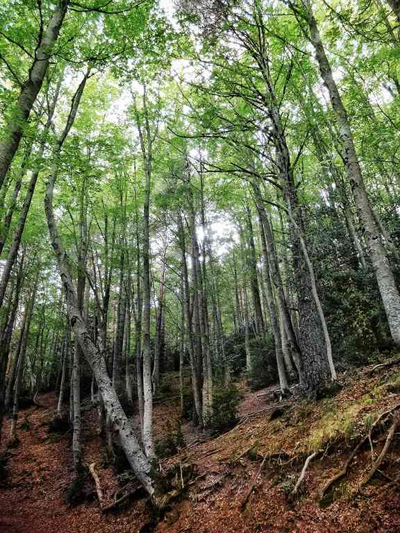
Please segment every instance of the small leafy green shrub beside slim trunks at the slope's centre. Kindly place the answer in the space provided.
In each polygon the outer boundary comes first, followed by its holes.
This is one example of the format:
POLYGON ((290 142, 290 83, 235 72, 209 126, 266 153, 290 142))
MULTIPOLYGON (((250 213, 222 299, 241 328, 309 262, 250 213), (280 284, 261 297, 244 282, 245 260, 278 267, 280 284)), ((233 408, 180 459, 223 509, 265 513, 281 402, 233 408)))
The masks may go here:
POLYGON ((212 434, 224 433, 238 423, 240 392, 236 387, 216 387, 213 391, 212 434))

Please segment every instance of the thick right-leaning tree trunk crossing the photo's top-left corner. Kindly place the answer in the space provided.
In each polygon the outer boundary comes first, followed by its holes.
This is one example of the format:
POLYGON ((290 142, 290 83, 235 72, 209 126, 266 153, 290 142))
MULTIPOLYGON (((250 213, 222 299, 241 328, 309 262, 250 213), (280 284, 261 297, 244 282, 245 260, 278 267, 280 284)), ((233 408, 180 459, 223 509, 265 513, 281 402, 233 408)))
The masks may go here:
POLYGON ((49 24, 44 29, 42 39, 35 50, 33 63, 29 69, 28 80, 22 85, 15 109, 12 110, 12 117, 8 121, 6 137, 0 142, 0 187, 3 185, 6 173, 18 149, 33 103, 35 103, 42 87, 47 67, 49 67, 52 49, 58 40, 58 34, 60 33, 68 4, 69 0, 58 1, 49 24))

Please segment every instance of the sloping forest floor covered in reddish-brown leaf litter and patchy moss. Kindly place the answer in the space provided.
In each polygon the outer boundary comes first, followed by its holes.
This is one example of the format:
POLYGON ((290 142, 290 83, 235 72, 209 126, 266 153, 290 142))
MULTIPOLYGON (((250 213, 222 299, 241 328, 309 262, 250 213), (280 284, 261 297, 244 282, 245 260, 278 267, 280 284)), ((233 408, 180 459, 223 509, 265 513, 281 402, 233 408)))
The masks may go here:
MULTIPOLYGON (((240 422, 233 430, 210 438, 186 424, 187 446, 160 463, 163 471, 172 464, 190 464, 193 473, 172 510, 147 531, 399 533, 399 432, 394 433, 374 477, 361 484, 372 465, 370 443, 376 459, 394 420, 392 414, 376 425, 347 475, 323 500, 319 498, 326 481, 340 471, 360 439, 368 436, 376 418, 400 408, 399 367, 371 370, 370 366, 347 371, 340 376, 342 390, 317 402, 292 399, 278 406, 266 391, 251 392, 240 384, 240 422), (289 493, 305 459, 315 451, 291 500, 289 493)), ((126 500, 122 508, 101 512, 90 476, 85 481, 88 498, 67 505, 65 489, 74 480, 71 434, 49 433, 56 398, 46 394, 39 401, 42 408, 29 407, 19 416, 19 446, 11 450, 8 477, 0 486, 0 532, 140 532, 151 521, 146 499, 126 500)), ((156 405, 158 437, 178 417, 174 401, 156 405)), ((95 462, 104 498, 113 502, 113 495, 128 481, 106 465, 95 409, 84 412, 83 418, 84 462, 95 462)), ((4 440, 8 426, 7 421, 4 440)))

